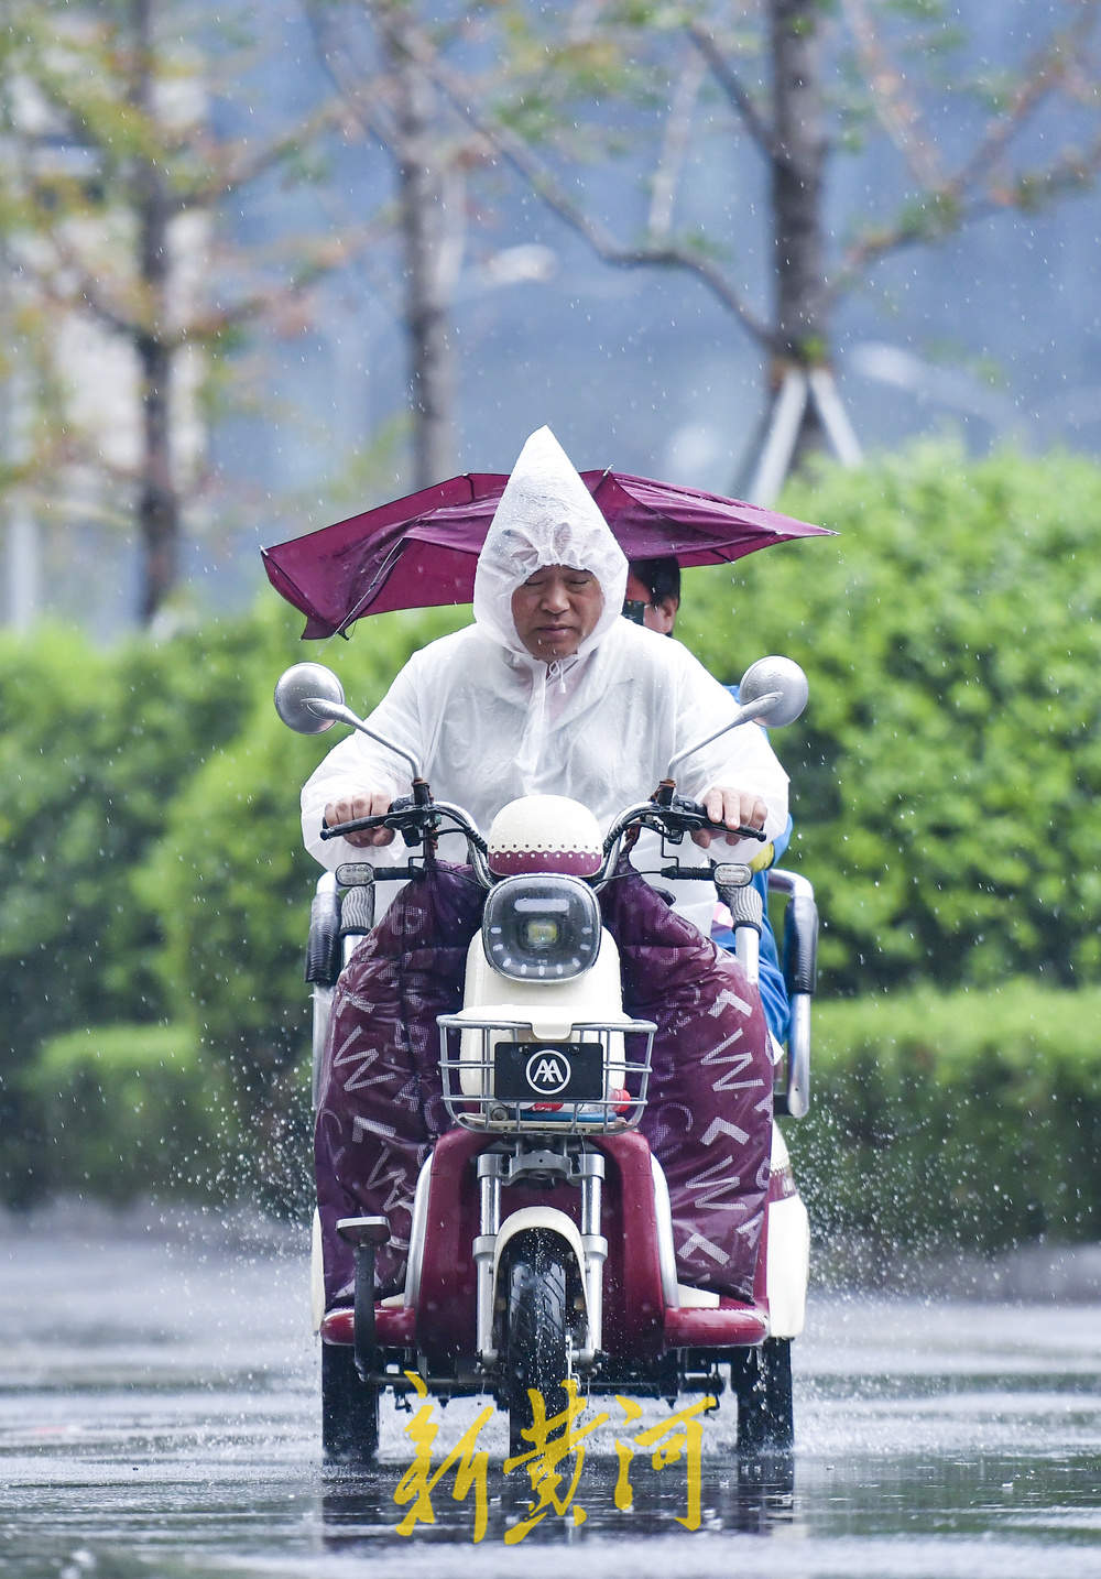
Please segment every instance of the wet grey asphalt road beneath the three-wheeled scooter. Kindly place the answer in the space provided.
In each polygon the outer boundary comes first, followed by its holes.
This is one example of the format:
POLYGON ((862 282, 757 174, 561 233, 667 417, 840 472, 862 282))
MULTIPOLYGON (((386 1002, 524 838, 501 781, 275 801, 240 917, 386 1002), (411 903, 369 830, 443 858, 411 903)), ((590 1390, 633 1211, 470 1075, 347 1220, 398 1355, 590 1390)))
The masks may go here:
MULTIPOLYGON (((436 1522, 398 1533, 414 1448, 389 1404, 379 1468, 322 1470, 306 1309, 305 1249, 226 1244, 216 1217, 2 1224, 0 1576, 1101 1576, 1098 1301, 818 1295, 795 1355, 793 1486, 739 1478, 727 1404, 705 1420, 700 1528, 678 1522, 684 1465, 648 1454, 621 1511, 610 1424, 569 1511, 515 1544, 529 1491, 502 1473, 499 1421, 479 1437, 479 1544, 475 1494, 455 1500, 450 1476, 436 1522)), ((444 1451, 479 1407, 436 1416, 444 1451)))

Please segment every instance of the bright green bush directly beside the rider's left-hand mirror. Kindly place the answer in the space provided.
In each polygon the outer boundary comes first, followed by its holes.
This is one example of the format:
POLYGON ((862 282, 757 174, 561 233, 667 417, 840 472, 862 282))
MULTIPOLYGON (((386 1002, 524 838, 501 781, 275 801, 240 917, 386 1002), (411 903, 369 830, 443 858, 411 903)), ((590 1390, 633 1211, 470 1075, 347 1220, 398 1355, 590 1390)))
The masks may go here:
POLYGON ((302 966, 321 868, 302 846, 299 791, 346 733, 292 734, 272 706, 273 682, 287 663, 322 657, 340 668, 349 703, 368 712, 412 651, 464 617, 389 616, 354 651, 284 644, 245 726, 180 790, 134 873, 142 903, 160 913, 155 968, 167 1012, 196 1023, 259 1123, 273 1101, 283 1105, 284 1072, 310 1039, 302 966))

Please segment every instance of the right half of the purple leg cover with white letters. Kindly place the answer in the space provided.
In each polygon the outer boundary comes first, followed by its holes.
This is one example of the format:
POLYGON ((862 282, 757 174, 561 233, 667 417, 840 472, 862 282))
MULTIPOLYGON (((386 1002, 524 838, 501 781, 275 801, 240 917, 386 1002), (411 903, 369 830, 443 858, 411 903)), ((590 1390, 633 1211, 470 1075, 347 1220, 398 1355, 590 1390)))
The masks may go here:
POLYGON ((752 1298, 772 1138, 765 1011, 733 958, 619 867, 600 894, 624 1007, 657 1023, 641 1132, 665 1168, 676 1274, 752 1298))

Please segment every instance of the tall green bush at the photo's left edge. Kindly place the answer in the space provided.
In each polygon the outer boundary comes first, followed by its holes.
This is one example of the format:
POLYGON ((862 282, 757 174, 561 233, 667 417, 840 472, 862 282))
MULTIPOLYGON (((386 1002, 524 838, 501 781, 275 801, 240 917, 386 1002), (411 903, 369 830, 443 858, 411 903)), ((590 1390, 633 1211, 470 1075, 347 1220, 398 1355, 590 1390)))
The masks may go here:
MULTIPOLYGON (((166 1020, 160 895, 134 876, 190 778, 234 739, 281 665, 275 600, 169 641, 98 649, 43 625, 0 636, 0 1175, 52 1187, 28 1097, 43 1045, 87 1025, 166 1020), (28 1078, 24 1078, 28 1077, 28 1078)), ((185 1017, 186 1018, 186 1017, 185 1017)))

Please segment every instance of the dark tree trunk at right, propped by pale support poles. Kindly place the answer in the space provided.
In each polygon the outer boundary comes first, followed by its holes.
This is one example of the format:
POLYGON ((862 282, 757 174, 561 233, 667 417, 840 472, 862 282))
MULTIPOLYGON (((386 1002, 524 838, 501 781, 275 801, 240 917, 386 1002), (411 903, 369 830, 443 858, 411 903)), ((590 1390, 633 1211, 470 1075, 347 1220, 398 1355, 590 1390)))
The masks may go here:
MULTIPOLYGON (((821 204, 826 134, 821 106, 821 0, 771 0, 772 51, 772 254, 776 325, 772 399, 791 365, 829 365, 825 303, 821 204)), ((793 464, 823 442, 814 399, 807 399, 793 464)))

